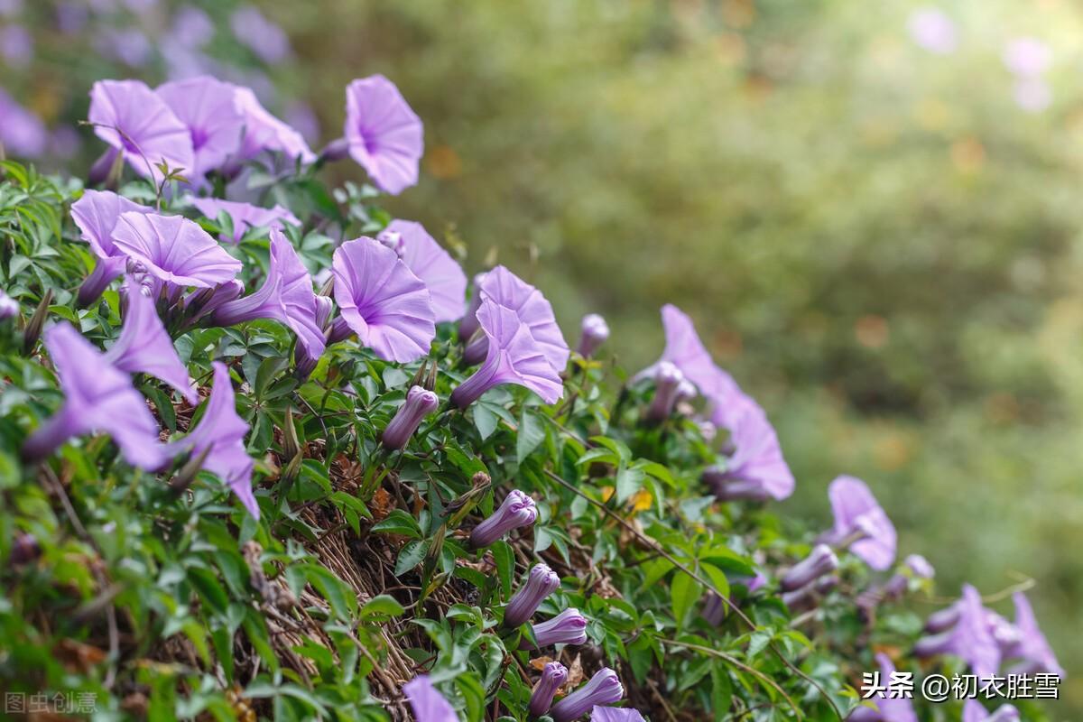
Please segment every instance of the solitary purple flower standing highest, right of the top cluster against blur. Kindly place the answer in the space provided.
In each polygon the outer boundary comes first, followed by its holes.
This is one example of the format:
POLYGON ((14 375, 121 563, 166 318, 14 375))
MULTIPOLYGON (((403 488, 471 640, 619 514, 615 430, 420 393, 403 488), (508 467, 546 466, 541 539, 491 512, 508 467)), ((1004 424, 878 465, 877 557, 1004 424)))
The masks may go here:
POLYGON ((343 134, 350 155, 380 188, 399 195, 417 184, 425 132, 393 82, 375 75, 347 86, 343 134))

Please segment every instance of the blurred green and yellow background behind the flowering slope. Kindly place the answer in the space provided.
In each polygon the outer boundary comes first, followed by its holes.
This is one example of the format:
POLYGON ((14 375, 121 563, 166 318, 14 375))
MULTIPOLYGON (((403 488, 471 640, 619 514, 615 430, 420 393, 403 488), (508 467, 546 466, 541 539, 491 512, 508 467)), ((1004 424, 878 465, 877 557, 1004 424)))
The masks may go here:
POLYGON ((0 139, 42 167, 101 150, 93 80, 199 73, 314 146, 390 77, 427 143, 396 215, 632 368, 682 306, 775 421, 786 513, 854 474, 944 596, 1033 580, 1083 717, 1083 3, 0 0, 0 139))

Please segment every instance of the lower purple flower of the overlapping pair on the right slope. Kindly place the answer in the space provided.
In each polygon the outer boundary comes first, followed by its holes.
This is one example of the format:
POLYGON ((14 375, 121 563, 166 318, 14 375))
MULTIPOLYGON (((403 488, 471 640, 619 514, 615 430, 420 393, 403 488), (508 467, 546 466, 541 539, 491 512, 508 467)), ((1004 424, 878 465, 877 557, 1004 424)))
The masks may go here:
POLYGON ((779 436, 759 404, 743 396, 731 420, 733 455, 725 471, 710 468, 704 481, 722 500, 785 499, 794 493, 794 474, 782 456, 779 436))

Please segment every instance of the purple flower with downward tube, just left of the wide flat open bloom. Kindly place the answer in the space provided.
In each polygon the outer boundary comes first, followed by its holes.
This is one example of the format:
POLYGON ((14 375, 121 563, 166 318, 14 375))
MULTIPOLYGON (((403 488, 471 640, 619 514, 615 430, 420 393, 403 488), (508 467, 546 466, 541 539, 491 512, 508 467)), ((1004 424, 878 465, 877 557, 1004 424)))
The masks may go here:
POLYGON ((126 212, 153 213, 154 209, 140 206, 112 191, 87 189, 82 198, 71 204, 71 219, 79 227, 80 238, 90 244, 97 257, 97 265, 79 287, 79 304, 97 300, 113 279, 125 272, 128 257, 113 244, 113 231, 126 212))

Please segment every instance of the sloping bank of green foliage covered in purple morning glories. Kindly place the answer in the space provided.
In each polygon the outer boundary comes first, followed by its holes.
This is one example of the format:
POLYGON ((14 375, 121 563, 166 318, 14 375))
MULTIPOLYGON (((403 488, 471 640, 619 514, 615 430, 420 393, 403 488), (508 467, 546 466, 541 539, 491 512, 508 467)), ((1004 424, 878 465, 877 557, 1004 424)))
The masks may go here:
POLYGON ((5 704, 1046 719, 1003 688, 921 699, 934 674, 1062 670, 1023 590, 931 596, 936 560, 860 480, 826 487, 832 528, 774 514, 778 436, 688 313, 619 368, 603 318, 561 329, 544 290, 468 278, 382 210, 423 152, 386 78, 345 89, 318 152, 210 77, 100 81, 86 130, 92 168, 0 165, 5 704), (367 183, 321 181, 350 159, 367 183), (906 674, 912 699, 872 688, 906 674))

